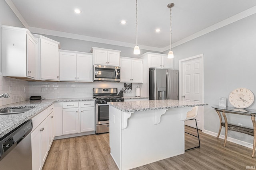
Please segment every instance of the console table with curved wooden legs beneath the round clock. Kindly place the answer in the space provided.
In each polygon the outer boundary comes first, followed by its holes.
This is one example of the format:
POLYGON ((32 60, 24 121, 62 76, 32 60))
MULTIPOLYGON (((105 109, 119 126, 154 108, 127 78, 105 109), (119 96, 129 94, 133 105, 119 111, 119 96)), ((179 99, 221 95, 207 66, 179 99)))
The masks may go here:
POLYGON ((255 121, 256 110, 238 109, 238 108, 234 108, 234 107, 219 107, 219 106, 212 106, 212 108, 215 109, 215 111, 218 113, 219 118, 220 118, 220 129, 219 129, 217 139, 220 136, 220 131, 221 131, 222 126, 225 127, 225 138, 224 138, 224 145, 223 145, 224 147, 226 147, 228 130, 237 131, 237 132, 241 132, 241 133, 246 133, 248 135, 253 136, 252 158, 254 158, 255 147, 256 147, 256 121, 255 121), (220 115, 220 112, 222 112, 222 115, 224 117, 225 122, 222 122, 222 117, 220 115), (247 127, 240 127, 238 125, 228 124, 226 113, 251 116, 253 129, 250 129, 250 128, 247 128, 247 127))

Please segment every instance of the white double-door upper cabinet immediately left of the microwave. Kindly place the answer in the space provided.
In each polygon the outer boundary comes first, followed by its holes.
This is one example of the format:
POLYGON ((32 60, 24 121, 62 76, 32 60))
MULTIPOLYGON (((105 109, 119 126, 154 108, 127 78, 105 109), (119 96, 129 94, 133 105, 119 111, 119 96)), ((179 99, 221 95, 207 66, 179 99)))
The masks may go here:
POLYGON ((92 82, 92 54, 60 50, 60 81, 92 82))

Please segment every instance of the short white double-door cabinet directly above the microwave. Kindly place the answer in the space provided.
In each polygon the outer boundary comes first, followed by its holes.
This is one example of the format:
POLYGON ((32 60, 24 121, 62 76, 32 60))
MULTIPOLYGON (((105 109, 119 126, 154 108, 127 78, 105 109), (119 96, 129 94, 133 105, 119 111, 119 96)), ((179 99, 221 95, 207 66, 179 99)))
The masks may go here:
POLYGON ((118 50, 92 47, 94 64, 120 66, 120 52, 118 50))

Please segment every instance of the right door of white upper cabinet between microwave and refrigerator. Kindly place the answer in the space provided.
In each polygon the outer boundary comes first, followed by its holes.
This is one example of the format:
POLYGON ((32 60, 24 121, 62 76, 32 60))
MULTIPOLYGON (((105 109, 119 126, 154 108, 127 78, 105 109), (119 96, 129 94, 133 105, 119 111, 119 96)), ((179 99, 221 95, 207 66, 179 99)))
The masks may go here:
POLYGON ((141 60, 132 60, 132 82, 143 82, 143 64, 141 60))

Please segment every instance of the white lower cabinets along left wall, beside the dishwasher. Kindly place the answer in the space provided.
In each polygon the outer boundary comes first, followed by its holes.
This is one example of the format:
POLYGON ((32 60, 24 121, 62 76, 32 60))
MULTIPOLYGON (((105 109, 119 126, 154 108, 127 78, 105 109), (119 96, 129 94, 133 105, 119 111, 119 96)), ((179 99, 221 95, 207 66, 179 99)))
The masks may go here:
POLYGON ((54 105, 50 106, 52 109, 45 109, 32 118, 33 129, 31 133, 31 149, 32 149, 32 170, 41 170, 53 139, 52 131, 54 131, 54 105), (49 114, 48 110, 52 110, 49 114), (49 124, 50 123, 50 124, 49 124), (49 145, 50 143, 50 145, 49 145))

